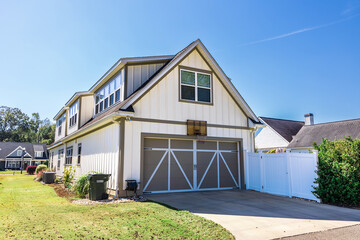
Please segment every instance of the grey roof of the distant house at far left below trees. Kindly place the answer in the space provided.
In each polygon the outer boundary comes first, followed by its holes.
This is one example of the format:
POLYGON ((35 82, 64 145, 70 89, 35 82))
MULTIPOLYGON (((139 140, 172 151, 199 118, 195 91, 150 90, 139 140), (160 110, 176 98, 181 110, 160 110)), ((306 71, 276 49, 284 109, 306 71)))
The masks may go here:
POLYGON ((19 146, 24 147, 25 151, 35 159, 35 151, 43 151, 44 156, 36 159, 48 159, 46 144, 44 143, 22 143, 22 142, 0 142, 0 159, 5 159, 7 156, 11 158, 19 158, 16 154, 11 154, 19 146), (11 154, 11 155, 10 155, 11 154))

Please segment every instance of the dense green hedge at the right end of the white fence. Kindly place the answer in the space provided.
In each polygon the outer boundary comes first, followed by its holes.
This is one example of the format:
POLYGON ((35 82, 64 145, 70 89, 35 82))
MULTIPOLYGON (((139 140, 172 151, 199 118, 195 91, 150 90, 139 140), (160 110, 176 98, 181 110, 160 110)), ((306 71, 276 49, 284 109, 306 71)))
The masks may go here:
POLYGON ((360 206, 360 139, 323 139, 314 147, 319 151, 315 196, 323 203, 360 206))

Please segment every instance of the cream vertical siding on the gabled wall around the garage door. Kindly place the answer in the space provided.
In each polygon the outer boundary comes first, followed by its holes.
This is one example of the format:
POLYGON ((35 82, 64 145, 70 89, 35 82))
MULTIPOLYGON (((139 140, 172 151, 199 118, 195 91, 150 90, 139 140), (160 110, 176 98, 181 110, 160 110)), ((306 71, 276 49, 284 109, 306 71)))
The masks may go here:
MULTIPOLYGON (((180 65, 210 71, 197 51, 180 65)), ((213 74, 213 105, 179 101, 179 69, 175 67, 156 86, 133 105, 135 116, 161 120, 205 120, 208 124, 247 126, 247 117, 213 74)), ((141 133, 187 135, 186 125, 156 122, 125 121, 124 180, 141 177, 141 133)), ((249 130, 208 127, 209 137, 242 138, 243 149, 253 151, 249 130)), ((140 183, 142 184, 142 183, 140 183)), ((124 183, 125 186, 125 183, 124 183)), ((142 186, 143 187, 143 186, 142 186)))

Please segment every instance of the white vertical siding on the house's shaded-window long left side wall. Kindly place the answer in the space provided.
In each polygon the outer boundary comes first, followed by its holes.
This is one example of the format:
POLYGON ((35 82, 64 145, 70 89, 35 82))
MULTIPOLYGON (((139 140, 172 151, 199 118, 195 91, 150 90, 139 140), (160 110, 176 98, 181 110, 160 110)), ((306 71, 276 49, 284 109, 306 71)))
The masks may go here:
MULTIPOLYGON (((108 188, 115 190, 119 163, 119 131, 119 124, 112 124, 50 150, 50 153, 55 151, 54 162, 56 162, 57 166, 58 150, 64 149, 64 157, 61 160, 60 168, 56 168, 56 174, 63 175, 66 148, 73 147, 72 166, 76 169, 75 177, 77 178, 91 171, 111 174, 108 188), (82 146, 82 153, 81 163, 78 166, 79 143, 82 146)), ((69 167, 69 165, 66 167, 69 167)))

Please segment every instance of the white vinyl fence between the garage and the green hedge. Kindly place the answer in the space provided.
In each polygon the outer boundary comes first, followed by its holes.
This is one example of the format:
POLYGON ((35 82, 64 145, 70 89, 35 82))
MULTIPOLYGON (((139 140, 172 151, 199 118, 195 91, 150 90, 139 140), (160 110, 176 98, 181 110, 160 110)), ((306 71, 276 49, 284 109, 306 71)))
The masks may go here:
POLYGON ((319 202, 312 191, 317 153, 247 153, 246 188, 319 202))

